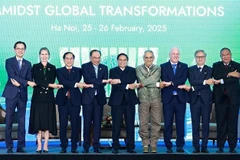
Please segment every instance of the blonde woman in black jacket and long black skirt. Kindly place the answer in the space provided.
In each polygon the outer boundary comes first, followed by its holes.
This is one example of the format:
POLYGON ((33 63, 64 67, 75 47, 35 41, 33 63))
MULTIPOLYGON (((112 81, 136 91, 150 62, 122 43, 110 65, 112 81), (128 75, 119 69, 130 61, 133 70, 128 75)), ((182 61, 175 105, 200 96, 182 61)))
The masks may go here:
POLYGON ((48 152, 49 134, 57 134, 56 108, 54 89, 61 88, 56 84, 56 67, 48 62, 50 52, 48 48, 39 51, 40 63, 32 67, 32 77, 37 86, 33 89, 29 120, 29 133, 37 134, 37 153, 42 152, 42 135, 44 135, 43 152, 48 152))

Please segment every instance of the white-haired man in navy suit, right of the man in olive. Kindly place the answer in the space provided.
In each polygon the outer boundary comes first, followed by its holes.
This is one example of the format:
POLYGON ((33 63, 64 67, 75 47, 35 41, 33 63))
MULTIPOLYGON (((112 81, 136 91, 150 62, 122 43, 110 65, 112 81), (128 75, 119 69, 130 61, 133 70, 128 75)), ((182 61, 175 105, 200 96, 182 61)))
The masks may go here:
POLYGON ((170 61, 161 64, 161 80, 164 87, 162 91, 163 115, 164 115, 164 142, 167 153, 172 153, 172 125, 175 114, 177 131, 177 152, 184 152, 184 119, 186 102, 189 100, 185 89, 178 88, 187 80, 187 64, 179 62, 180 52, 178 48, 172 48, 169 53, 170 61))

